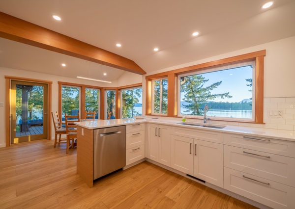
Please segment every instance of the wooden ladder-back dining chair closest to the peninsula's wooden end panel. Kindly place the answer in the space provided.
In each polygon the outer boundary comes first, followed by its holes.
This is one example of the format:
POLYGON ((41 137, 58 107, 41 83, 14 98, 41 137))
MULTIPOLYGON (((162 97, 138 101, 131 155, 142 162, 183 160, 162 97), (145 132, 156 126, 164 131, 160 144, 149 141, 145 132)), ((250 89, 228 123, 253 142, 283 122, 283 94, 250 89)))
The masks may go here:
POLYGON ((78 115, 67 115, 64 113, 64 118, 66 130, 66 154, 68 154, 69 149, 74 147, 74 140, 77 139, 77 125, 74 123, 80 121, 80 116, 79 113, 78 115))

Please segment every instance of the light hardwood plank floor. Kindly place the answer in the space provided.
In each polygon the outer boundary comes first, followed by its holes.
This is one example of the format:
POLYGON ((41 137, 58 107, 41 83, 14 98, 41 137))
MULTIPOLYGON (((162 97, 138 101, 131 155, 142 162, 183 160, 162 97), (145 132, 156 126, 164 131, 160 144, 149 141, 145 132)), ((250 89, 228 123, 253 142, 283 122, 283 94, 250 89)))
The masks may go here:
POLYGON ((76 173, 76 150, 34 141, 0 148, 0 208, 252 209, 228 195, 149 162, 89 188, 76 173))

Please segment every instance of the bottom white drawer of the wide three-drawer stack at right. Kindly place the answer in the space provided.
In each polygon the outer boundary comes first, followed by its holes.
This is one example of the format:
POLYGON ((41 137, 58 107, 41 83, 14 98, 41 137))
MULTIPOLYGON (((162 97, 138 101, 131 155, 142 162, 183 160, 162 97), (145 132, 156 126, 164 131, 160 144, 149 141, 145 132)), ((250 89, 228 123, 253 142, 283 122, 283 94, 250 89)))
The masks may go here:
POLYGON ((224 188, 275 209, 295 208, 295 188, 224 168, 224 188))

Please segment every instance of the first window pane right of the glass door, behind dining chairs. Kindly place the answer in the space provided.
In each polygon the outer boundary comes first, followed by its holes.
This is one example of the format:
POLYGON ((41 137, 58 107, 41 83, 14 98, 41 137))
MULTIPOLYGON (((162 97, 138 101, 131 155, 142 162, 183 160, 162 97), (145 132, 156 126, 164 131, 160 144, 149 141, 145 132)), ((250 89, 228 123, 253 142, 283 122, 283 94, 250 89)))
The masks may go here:
POLYGON ((72 86, 62 86, 61 88, 61 111, 64 113, 77 115, 80 107, 80 88, 72 86))

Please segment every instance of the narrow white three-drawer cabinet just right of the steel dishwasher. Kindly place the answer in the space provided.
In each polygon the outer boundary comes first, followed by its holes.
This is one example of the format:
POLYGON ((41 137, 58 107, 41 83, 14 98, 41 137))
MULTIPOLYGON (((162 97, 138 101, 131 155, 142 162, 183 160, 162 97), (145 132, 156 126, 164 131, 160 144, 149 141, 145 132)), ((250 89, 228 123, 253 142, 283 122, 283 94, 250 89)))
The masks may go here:
POLYGON ((126 165, 145 158, 145 124, 126 126, 126 165))

